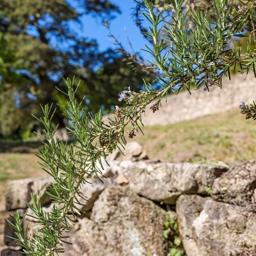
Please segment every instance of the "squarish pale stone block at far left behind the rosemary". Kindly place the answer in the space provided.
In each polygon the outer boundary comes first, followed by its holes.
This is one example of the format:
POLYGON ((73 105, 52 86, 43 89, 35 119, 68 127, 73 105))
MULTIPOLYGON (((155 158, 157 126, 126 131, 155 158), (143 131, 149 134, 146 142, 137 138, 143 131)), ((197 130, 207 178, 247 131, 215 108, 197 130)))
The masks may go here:
POLYGON ((27 208, 24 200, 30 202, 31 193, 41 192, 42 205, 50 202, 50 196, 46 194, 46 187, 54 180, 51 177, 46 178, 27 178, 23 180, 9 181, 8 188, 5 194, 6 210, 15 210, 18 208, 27 208))

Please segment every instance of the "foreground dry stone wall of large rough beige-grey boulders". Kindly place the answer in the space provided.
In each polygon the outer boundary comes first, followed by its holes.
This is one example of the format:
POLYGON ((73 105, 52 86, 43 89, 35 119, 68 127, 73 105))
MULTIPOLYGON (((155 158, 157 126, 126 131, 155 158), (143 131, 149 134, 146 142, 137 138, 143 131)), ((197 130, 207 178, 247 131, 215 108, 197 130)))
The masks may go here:
MULTIPOLYGON (((82 188, 89 200, 87 213, 68 233, 73 245, 64 245, 65 256, 171 256, 175 250, 187 256, 256 256, 256 160, 230 167, 162 163, 141 160, 146 153, 138 145, 128 148, 127 158, 110 159, 104 185, 94 180, 82 188)), ((35 188, 44 195, 42 184, 48 182, 18 184, 23 195, 35 188)), ((6 204, 8 210, 24 208, 15 194, 11 182, 6 195, 14 202, 6 204)), ((52 203, 42 204, 50 211, 52 203)), ((33 234, 34 219, 26 217, 27 224, 33 234)), ((5 233, 14 235, 7 225, 5 233)), ((1 256, 20 255, 21 248, 14 250, 10 239, 5 243, 9 247, 1 256)))

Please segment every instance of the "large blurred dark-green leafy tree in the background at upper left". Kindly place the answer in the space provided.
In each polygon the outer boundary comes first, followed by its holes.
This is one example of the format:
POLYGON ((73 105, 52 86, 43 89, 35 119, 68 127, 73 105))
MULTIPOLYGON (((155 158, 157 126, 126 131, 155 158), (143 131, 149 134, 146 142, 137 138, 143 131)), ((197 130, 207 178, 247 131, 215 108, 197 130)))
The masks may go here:
MULTIPOLYGON (((31 113, 39 113, 39 104, 62 104, 65 99, 55 87, 66 91, 63 77, 75 75, 81 80, 77 97, 85 95, 84 106, 94 112, 99 107, 108 111, 110 106, 115 106, 116 95, 124 86, 136 90, 137 85, 143 83, 142 71, 135 73, 125 65, 123 54, 113 50, 100 52, 95 40, 74 30, 75 26, 81 26, 79 19, 82 15, 93 15, 102 20, 114 18, 119 9, 110 1, 0 0, 0 10, 0 32, 8 38, 2 53, 12 52, 9 69, 15 70, 15 76, 0 70, 5 77, 0 81, 1 91, 12 95, 7 98, 1 95, 1 107, 5 109, 0 113, 2 135, 33 128, 35 122, 31 113), (123 80, 123 77, 132 79, 123 80), (19 122, 16 122, 15 112, 22 113, 19 122)), ((7 56, 9 54, 5 54, 7 56)), ((4 65, 8 63, 5 58, 4 65)), ((59 108, 53 122, 60 127, 66 124, 59 108)))

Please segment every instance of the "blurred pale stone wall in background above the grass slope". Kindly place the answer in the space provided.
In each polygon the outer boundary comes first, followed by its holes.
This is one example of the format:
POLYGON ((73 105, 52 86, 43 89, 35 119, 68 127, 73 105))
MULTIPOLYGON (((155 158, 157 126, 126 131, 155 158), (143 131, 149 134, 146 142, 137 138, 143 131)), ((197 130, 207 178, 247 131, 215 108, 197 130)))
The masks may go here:
MULTIPOLYGON (((222 89, 212 86, 210 92, 191 90, 178 95, 171 95, 167 102, 162 100, 162 107, 153 113, 146 108, 145 116, 142 117, 145 126, 173 124, 188 121, 208 114, 225 112, 237 108, 241 101, 252 103, 256 100, 256 79, 253 73, 249 73, 244 80, 244 74, 233 75, 231 81, 223 78, 222 89), (177 114, 178 113, 178 114, 177 114)), ((238 110, 239 111, 239 110, 238 110)), ((108 121, 105 116, 105 122, 108 121)))

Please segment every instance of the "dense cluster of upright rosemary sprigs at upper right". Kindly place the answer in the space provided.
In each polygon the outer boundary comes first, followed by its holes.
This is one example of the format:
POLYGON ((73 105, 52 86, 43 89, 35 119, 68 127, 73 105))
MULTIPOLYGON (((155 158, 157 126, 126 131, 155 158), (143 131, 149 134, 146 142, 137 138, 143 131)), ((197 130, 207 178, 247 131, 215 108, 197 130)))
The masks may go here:
POLYGON ((253 69, 255 60, 250 51, 235 53, 225 47, 232 37, 246 36, 242 31, 247 24, 249 7, 243 6, 240 11, 238 8, 231 9, 226 1, 214 1, 213 11, 218 19, 213 23, 210 12, 201 14, 197 8, 185 13, 183 1, 171 2, 177 17, 170 25, 165 22, 165 17, 154 14, 149 3, 144 5, 144 16, 152 24, 147 35, 154 41, 153 49, 148 48, 147 51, 155 58, 152 64, 159 70, 159 80, 164 87, 173 88, 175 85, 178 91, 185 88, 190 91, 190 83, 194 82, 198 89, 204 87, 209 91, 210 86, 221 86, 222 76, 230 76, 232 66, 241 64, 241 73, 253 69), (188 15, 193 29, 185 27, 188 15), (161 26, 164 26, 168 39, 158 40, 161 26), (165 45, 165 41, 170 43, 165 45), (244 62, 245 58, 250 61, 244 62))

